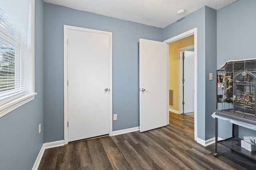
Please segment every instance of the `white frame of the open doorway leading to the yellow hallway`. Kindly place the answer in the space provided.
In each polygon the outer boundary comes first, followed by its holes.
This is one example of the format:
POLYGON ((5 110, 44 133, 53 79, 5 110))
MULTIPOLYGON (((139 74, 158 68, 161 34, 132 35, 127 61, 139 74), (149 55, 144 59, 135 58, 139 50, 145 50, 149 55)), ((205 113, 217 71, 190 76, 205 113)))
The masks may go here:
MULTIPOLYGON (((183 38, 186 38, 188 36, 192 36, 194 35, 194 140, 197 141, 197 91, 198 91, 198 87, 197 87, 197 28, 193 28, 192 30, 189 30, 187 32, 184 32, 182 34, 179 34, 177 36, 174 36, 172 38, 169 38, 168 40, 165 40, 164 42, 166 43, 172 43, 172 42, 176 42, 178 40, 181 40, 183 38)), ((169 81, 169 77, 167 77, 168 81, 169 81)))

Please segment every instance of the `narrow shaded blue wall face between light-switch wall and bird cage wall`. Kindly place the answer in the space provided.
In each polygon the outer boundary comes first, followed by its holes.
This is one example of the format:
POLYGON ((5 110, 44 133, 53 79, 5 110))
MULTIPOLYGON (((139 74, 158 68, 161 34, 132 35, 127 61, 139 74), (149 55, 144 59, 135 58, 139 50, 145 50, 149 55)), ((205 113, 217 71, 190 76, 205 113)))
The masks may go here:
MULTIPOLYGON (((217 55, 217 27, 216 10, 205 8, 205 140, 215 136, 215 121, 212 113, 216 108, 216 55, 217 55), (210 81, 209 73, 213 73, 210 81)), ((198 68, 200 65, 198 65, 198 68)), ((198 77, 200 83, 200 77, 198 77)), ((198 103, 200 107, 200 103, 198 103)), ((200 122, 198 122, 200 123, 200 122)), ((199 136, 198 136, 199 137, 199 136)))

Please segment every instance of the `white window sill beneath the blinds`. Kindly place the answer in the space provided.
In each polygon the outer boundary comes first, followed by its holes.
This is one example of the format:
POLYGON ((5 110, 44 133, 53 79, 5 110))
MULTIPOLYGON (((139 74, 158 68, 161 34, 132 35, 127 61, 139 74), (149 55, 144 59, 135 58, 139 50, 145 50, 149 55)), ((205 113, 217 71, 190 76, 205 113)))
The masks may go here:
POLYGON ((21 97, 18 97, 17 99, 14 99, 2 106, 0 106, 0 118, 4 115, 10 113, 14 109, 17 109, 18 107, 28 103, 29 101, 34 100, 34 97, 37 93, 32 93, 28 95, 23 95, 21 97))

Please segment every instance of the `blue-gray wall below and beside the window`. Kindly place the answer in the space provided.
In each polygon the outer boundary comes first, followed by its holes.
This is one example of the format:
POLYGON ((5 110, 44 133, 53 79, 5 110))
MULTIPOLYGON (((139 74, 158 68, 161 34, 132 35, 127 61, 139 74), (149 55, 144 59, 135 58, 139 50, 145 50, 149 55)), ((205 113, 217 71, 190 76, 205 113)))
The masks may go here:
POLYGON ((44 8, 35 4, 35 91, 33 101, 0 118, 0 169, 31 170, 44 142, 44 8), (38 125, 42 131, 38 134, 38 125))

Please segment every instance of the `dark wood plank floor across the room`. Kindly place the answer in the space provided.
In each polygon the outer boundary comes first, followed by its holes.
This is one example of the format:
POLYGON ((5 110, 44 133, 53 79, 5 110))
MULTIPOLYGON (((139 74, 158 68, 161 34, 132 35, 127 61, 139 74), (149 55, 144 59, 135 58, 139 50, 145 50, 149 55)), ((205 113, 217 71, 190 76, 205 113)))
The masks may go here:
POLYGON ((38 170, 245 170, 256 161, 218 144, 194 140, 194 119, 170 112, 170 125, 46 149, 38 170))

